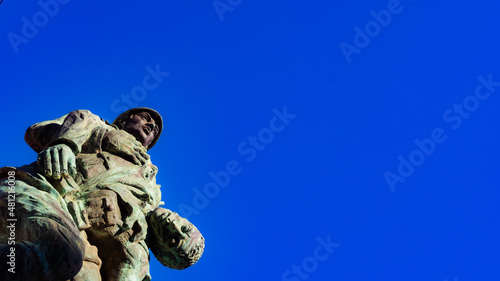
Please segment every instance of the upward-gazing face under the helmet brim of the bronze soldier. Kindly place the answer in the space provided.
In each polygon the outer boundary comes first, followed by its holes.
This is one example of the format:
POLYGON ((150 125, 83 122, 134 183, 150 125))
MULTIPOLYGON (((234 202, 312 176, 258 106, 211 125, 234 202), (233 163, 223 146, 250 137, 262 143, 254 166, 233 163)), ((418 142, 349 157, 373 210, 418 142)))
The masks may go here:
POLYGON ((145 111, 130 115, 123 130, 133 135, 144 147, 148 147, 158 134, 158 126, 151 115, 145 111))

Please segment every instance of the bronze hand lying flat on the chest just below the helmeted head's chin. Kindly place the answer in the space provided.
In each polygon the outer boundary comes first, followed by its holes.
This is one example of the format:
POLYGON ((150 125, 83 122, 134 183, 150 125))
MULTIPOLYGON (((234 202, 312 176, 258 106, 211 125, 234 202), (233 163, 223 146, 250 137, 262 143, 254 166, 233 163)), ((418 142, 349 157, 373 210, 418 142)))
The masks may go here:
POLYGON ((136 165, 144 165, 149 160, 146 148, 125 131, 106 133, 102 140, 102 148, 136 165))

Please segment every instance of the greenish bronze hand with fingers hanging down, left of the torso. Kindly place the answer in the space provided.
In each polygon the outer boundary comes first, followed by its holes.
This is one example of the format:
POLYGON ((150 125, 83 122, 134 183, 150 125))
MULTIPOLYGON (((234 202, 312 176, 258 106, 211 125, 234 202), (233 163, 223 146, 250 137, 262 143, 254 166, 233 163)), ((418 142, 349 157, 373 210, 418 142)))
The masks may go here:
POLYGON ((46 177, 60 179, 76 174, 75 154, 65 144, 47 147, 38 154, 37 164, 46 177))

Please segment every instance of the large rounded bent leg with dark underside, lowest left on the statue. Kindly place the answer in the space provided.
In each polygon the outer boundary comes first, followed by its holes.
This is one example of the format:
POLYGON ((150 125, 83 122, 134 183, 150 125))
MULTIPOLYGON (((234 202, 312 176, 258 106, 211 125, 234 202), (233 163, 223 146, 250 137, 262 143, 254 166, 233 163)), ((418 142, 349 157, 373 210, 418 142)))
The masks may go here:
POLYGON ((75 276, 82 267, 85 245, 71 216, 53 195, 19 180, 15 181, 15 206, 9 206, 12 193, 7 187, 6 180, 0 181, 0 274, 6 274, 0 279, 67 280, 75 276), (9 245, 12 232, 7 226, 13 226, 15 245, 9 245), (7 271, 11 247, 15 273, 7 271))

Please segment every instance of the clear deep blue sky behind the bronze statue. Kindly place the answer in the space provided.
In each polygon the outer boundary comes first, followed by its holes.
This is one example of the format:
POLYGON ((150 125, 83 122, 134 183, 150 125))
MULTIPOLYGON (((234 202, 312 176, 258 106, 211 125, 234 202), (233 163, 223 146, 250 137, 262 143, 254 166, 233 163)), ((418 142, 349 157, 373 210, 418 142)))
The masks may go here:
POLYGON ((36 122, 158 110, 163 201, 206 251, 154 280, 498 280, 496 1, 21 2, 0 166, 36 122))

